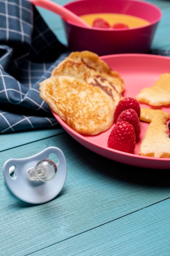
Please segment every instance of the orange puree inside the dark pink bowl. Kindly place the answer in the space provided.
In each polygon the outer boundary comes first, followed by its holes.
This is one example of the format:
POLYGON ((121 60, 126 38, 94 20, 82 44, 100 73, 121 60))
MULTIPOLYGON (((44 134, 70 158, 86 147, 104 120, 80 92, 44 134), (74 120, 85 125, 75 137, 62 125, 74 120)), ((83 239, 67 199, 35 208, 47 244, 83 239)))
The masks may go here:
POLYGON ((128 27, 140 27, 149 24, 147 20, 121 13, 92 13, 82 15, 80 18, 86 21, 90 26, 92 26, 93 21, 96 18, 102 18, 106 20, 110 27, 112 27, 117 22, 126 24, 128 27))

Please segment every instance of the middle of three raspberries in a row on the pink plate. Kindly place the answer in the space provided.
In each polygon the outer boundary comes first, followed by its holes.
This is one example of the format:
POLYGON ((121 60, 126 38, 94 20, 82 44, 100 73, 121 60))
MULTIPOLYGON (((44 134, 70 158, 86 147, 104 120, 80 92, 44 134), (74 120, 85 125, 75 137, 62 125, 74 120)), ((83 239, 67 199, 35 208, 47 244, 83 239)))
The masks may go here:
POLYGON ((119 121, 127 121, 132 124, 135 130, 136 140, 139 138, 141 134, 141 124, 137 112, 134 109, 128 108, 123 110, 117 119, 117 122, 119 121))

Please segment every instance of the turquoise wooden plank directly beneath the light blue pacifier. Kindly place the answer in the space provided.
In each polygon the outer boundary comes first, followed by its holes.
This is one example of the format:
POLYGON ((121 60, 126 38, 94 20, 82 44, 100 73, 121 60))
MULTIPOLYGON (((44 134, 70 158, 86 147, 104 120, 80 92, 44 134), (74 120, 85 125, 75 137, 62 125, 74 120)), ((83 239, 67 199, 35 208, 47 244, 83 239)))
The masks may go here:
MULTIPOLYGON (((155 170, 127 168, 84 148, 66 133, 3 151, 0 164, 49 146, 62 149, 68 166, 64 188, 53 201, 22 202, 0 173, 0 252, 4 255, 31 254, 169 198, 163 171, 160 177, 155 170)), ((104 234, 107 237, 107 228, 104 234)))

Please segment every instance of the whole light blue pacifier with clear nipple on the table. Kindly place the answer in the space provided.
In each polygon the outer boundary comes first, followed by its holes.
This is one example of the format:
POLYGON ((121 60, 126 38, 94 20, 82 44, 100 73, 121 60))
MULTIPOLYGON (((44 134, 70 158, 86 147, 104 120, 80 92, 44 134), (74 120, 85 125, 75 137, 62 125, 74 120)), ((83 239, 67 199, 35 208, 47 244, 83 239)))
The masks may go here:
POLYGON ((60 148, 49 147, 31 157, 7 160, 3 175, 9 190, 17 198, 42 204, 62 190, 67 175, 66 159, 60 148), (52 155, 57 161, 50 159, 52 155))

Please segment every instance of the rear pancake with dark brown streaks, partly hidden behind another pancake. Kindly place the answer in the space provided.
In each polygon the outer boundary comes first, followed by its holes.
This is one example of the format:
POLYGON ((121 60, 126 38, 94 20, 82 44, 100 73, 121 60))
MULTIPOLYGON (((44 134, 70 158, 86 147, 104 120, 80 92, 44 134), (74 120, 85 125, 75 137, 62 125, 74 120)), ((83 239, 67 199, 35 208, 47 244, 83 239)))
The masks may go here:
POLYGON ((122 99, 123 79, 93 52, 72 52, 53 69, 51 76, 56 75, 75 77, 102 88, 113 99, 115 106, 122 99))

